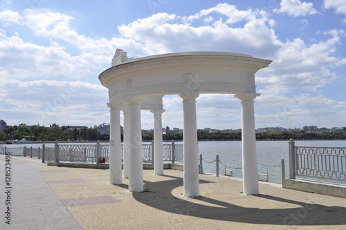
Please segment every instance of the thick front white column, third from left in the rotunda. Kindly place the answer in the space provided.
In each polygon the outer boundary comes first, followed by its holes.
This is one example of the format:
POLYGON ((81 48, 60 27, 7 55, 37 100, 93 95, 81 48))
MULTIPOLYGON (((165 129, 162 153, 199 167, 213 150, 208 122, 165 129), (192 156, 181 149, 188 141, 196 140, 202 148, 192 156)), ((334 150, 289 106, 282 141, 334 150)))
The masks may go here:
POLYGON ((128 98, 129 103, 129 191, 143 191, 142 128, 140 123, 140 99, 128 98))

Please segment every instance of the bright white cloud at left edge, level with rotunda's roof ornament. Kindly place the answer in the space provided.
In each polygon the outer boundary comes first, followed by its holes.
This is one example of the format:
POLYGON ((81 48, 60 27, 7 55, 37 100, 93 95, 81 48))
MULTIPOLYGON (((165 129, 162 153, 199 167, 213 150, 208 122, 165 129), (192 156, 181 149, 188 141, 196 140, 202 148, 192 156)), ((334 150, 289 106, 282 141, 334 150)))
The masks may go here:
POLYGON ((75 74, 75 67, 87 64, 66 53, 62 46, 39 46, 15 36, 0 40, 0 52, 0 79, 69 77, 75 74))

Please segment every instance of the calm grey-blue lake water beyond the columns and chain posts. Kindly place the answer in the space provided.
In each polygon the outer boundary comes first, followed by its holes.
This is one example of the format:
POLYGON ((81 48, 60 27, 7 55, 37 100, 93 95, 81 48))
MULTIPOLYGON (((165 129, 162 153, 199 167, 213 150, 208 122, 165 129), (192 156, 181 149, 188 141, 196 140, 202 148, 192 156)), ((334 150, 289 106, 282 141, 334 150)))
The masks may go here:
MULTIPOLYGON (((148 142, 145 142, 148 143, 148 142)), ((182 142, 176 142, 182 143, 182 142)), ((81 144, 81 143, 71 143, 81 144)), ((94 142, 84 144, 95 144, 94 142)), ((108 144, 103 142, 101 144, 108 144)), ((346 147, 346 141, 295 141, 296 146, 346 147)), ((5 145, 1 145, 5 146, 5 145)), ((10 148, 24 145, 7 145, 10 148)), ((38 148, 42 144, 30 144, 28 147, 38 148)), ((46 147, 54 147, 54 143, 46 143, 46 147)), ((281 184, 281 159, 285 161, 286 178, 289 177, 289 141, 256 141, 259 173, 268 170, 269 182, 281 184)), ((199 153, 202 154, 203 172, 216 173, 216 159, 219 154, 219 175, 224 175, 224 165, 233 168, 234 177, 242 177, 242 141, 199 141, 199 153)), ((264 178, 264 177, 261 177, 264 178)), ((346 183, 342 183, 346 184, 346 183)))

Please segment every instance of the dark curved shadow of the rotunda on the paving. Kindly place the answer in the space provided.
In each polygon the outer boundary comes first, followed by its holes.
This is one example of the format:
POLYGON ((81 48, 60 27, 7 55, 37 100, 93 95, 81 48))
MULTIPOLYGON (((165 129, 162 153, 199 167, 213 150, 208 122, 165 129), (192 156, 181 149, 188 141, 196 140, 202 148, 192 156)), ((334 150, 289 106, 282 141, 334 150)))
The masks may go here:
MULTIPOLYGON (((346 208, 344 207, 308 204, 270 195, 256 195, 255 197, 260 199, 258 202, 286 202, 297 204, 300 207, 290 209, 257 209, 238 206, 229 202, 203 196, 188 199, 182 197, 182 199, 180 199, 172 195, 172 190, 182 186, 183 179, 167 175, 163 177, 170 177, 172 179, 160 182, 145 181, 145 191, 142 193, 133 193, 134 199, 165 212, 211 220, 280 225, 317 226, 325 224, 346 224, 346 208), (203 201, 203 204, 197 204, 199 200, 203 201), (208 204, 210 204, 210 206, 208 204)), ((200 183, 212 182, 200 180, 200 183)))

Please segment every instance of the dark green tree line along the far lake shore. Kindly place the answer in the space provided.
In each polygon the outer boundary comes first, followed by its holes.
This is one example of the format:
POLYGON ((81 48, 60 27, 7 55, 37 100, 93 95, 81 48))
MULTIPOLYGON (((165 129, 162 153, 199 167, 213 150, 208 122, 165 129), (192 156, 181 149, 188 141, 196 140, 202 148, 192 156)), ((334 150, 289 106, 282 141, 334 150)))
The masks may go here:
MULTIPOLYGON (((197 138, 201 141, 207 140, 242 140, 242 130, 232 130, 230 132, 217 131, 208 132, 207 130, 197 130, 197 138)), ((17 126, 8 125, 5 132, 0 132, 0 141, 6 140, 29 141, 108 141, 109 135, 101 135, 95 128, 84 127, 82 129, 71 129, 69 126, 45 127, 40 125, 17 126)), ((121 139, 123 136, 121 135, 121 139)), ((142 135, 144 141, 154 139, 154 132, 148 131, 142 135)), ((346 132, 263 132, 256 133, 257 140, 328 140, 328 139, 346 139, 346 132)), ((183 133, 170 132, 163 134, 163 140, 183 140, 183 133)))

